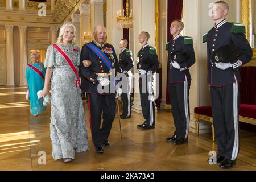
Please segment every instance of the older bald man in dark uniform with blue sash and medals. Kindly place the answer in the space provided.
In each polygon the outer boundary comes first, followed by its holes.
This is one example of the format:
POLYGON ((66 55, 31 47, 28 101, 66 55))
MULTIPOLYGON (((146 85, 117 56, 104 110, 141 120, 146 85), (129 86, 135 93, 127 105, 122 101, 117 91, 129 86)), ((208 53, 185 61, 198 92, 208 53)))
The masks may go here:
POLYGON ((88 93, 93 144, 103 153, 115 118, 115 75, 121 70, 114 47, 105 43, 105 27, 97 26, 93 34, 95 40, 82 47, 79 71, 82 90, 88 93), (90 67, 84 67, 84 60, 91 61, 90 67))

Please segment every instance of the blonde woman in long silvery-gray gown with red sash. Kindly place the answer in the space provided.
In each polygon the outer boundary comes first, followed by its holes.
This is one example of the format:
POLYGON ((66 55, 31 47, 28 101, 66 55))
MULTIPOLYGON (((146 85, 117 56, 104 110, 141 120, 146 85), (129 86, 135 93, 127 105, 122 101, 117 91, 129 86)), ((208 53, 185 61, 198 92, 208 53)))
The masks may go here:
POLYGON ((64 162, 71 162, 77 152, 88 150, 80 81, 76 73, 80 49, 75 46, 75 32, 72 23, 64 23, 57 43, 48 47, 44 62, 47 71, 43 97, 49 94, 48 85, 53 73, 50 123, 52 156, 54 160, 63 159, 64 162))

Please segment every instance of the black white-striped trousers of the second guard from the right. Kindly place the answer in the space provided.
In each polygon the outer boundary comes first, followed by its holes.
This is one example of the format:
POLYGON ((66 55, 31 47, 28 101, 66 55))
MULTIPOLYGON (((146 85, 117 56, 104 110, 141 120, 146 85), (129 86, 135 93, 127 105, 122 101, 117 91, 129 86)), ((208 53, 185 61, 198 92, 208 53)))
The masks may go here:
POLYGON ((174 117, 175 132, 177 138, 188 138, 189 131, 189 89, 191 81, 169 84, 169 96, 174 117))

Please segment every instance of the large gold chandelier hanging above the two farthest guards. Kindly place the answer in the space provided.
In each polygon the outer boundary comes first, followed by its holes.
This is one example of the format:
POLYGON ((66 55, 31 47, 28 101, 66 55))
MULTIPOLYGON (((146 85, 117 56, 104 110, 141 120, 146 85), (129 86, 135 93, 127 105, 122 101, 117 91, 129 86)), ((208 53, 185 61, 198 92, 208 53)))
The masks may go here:
POLYGON ((133 28, 133 10, 129 11, 129 0, 126 0, 126 15, 124 9, 117 11, 117 27, 133 28))

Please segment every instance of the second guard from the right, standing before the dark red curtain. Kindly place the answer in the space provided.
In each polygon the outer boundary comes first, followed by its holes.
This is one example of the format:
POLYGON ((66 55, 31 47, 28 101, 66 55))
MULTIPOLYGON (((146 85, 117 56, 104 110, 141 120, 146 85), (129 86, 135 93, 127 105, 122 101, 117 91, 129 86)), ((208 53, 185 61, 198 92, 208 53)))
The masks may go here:
POLYGON ((188 141, 189 130, 189 89, 191 75, 189 67, 195 63, 195 52, 193 39, 181 36, 184 24, 180 20, 174 20, 170 27, 170 33, 174 36, 166 44, 168 51, 168 90, 174 117, 175 132, 167 142, 174 142, 175 145, 184 144, 188 141), (179 56, 184 52, 187 56, 179 56))

